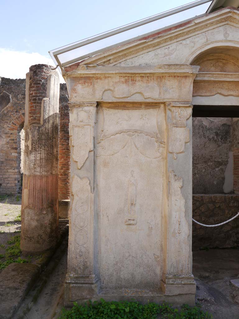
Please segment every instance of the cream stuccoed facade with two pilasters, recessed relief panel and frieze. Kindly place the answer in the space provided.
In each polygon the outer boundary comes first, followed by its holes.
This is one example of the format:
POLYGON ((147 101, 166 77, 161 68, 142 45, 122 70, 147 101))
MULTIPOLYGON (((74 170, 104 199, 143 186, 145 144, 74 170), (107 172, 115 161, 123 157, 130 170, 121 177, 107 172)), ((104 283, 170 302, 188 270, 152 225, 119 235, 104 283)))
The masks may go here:
POLYGON ((138 300, 164 293, 192 304, 192 171, 182 163, 192 156, 197 68, 124 70, 123 77, 119 68, 96 66, 66 78, 72 200, 65 304, 105 291, 129 298, 133 290, 138 300))

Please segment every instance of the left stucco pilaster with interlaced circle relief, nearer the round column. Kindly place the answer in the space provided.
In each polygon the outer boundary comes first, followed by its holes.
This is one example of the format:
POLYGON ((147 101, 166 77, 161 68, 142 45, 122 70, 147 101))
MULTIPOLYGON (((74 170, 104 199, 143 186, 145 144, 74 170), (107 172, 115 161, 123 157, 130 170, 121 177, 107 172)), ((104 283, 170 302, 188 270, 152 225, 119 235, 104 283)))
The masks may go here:
POLYGON ((70 103, 71 207, 65 303, 98 293, 94 214, 96 102, 70 103))

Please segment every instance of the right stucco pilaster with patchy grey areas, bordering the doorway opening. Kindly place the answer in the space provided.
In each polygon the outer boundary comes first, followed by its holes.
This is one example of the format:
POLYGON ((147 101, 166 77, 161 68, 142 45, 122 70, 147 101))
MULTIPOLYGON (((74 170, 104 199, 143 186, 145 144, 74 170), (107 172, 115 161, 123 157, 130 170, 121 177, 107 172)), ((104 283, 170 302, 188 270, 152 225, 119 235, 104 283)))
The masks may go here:
POLYGON ((192 275, 192 105, 167 103, 168 208, 164 226, 165 295, 188 295, 195 303, 196 284, 192 275))

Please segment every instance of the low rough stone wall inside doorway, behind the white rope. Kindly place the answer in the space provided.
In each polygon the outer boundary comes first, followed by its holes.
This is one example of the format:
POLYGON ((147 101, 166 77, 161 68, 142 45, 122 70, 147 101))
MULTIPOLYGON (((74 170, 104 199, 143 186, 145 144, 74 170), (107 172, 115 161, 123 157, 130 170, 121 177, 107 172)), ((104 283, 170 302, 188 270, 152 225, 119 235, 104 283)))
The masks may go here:
MULTIPOLYGON (((192 218, 215 225, 232 218, 239 210, 239 195, 193 195, 192 218)), ((239 246, 239 218, 218 227, 204 227, 192 222, 192 249, 232 248, 239 246)))

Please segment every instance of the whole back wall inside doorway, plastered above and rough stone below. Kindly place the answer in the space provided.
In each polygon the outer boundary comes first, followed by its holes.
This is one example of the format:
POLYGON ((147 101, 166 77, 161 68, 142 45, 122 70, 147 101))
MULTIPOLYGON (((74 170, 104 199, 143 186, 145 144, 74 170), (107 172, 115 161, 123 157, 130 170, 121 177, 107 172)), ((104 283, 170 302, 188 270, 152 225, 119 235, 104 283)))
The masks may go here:
MULTIPOLYGON (((239 209, 239 119, 192 119, 192 217, 214 225, 239 209)), ((218 227, 192 222, 192 248, 239 246, 239 218, 218 227)))

